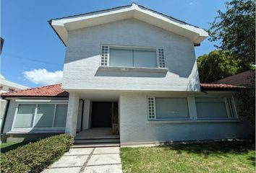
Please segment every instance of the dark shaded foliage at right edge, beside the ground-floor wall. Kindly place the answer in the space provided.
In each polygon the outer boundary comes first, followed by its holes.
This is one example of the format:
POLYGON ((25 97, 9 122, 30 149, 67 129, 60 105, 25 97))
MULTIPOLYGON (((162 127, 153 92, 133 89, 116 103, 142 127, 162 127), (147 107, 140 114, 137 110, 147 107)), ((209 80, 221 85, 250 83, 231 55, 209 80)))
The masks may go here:
POLYGON ((236 92, 241 104, 239 104, 239 115, 247 117, 250 123, 255 124, 255 71, 250 79, 250 84, 246 88, 236 92))

